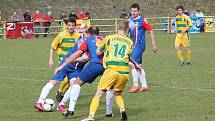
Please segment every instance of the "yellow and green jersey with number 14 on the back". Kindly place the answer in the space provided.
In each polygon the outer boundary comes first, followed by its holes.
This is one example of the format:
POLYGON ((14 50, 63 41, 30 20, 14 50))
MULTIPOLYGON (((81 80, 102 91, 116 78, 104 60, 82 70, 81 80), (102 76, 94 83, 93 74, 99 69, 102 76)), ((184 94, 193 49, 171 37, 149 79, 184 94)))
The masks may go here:
POLYGON ((129 74, 129 55, 133 49, 133 41, 124 35, 109 35, 96 43, 104 52, 104 68, 112 68, 121 74, 129 74))

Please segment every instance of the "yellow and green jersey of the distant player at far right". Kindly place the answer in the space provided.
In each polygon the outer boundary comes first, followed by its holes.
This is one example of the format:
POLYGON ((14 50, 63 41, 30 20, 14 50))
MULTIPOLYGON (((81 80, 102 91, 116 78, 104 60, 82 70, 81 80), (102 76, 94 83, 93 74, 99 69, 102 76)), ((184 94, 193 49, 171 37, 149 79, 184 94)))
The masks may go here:
POLYGON ((182 30, 191 26, 192 22, 189 16, 187 16, 186 14, 176 16, 177 33, 181 33, 182 30))

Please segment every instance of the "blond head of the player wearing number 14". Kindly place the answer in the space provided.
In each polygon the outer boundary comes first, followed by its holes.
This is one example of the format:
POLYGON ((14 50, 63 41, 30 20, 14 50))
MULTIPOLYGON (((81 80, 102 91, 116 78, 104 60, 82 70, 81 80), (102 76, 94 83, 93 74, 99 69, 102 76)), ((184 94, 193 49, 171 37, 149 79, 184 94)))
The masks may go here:
POLYGON ((118 33, 128 34, 129 25, 127 20, 122 20, 118 24, 118 33))

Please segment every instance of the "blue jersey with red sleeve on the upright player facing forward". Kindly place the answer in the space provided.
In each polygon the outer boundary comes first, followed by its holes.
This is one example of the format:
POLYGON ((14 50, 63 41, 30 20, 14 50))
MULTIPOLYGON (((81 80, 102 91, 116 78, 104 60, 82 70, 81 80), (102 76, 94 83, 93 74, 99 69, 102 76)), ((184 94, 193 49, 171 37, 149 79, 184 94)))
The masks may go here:
POLYGON ((130 37, 134 42, 134 47, 141 47, 145 48, 145 37, 146 37, 146 30, 150 31, 152 29, 151 25, 142 18, 134 18, 130 17, 129 19, 129 31, 130 37))

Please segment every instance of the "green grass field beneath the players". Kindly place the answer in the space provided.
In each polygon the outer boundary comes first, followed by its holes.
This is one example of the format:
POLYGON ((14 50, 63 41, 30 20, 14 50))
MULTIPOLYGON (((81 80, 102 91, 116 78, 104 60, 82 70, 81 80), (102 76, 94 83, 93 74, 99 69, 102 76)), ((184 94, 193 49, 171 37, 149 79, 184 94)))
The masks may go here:
MULTIPOLYGON (((215 36, 191 34, 192 65, 177 66, 175 35, 158 33, 159 53, 150 52, 150 39, 144 55, 149 93, 124 92, 128 121, 215 121, 215 36)), ((49 39, 0 40, 0 120, 1 121, 79 121, 87 116, 96 90, 96 82, 82 87, 75 117, 64 119, 58 111, 39 113, 33 109, 44 84, 53 70, 48 68, 49 39)), ((55 88, 49 95, 54 98, 55 88)), ((96 114, 105 118, 105 97, 96 114)))

